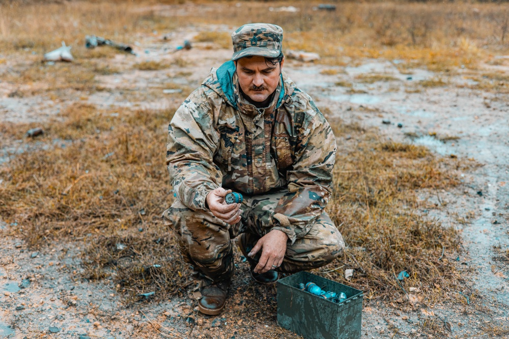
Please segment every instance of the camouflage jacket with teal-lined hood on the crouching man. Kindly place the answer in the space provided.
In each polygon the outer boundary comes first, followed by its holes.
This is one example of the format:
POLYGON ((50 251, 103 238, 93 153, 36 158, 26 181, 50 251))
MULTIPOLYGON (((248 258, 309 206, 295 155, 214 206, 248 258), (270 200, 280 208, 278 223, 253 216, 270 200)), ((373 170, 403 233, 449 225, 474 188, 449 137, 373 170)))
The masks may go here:
POLYGON ((208 210, 205 198, 217 187, 248 195, 288 189, 268 226, 293 243, 329 200, 335 152, 328 122, 285 72, 272 103, 258 109, 239 95, 228 61, 175 112, 166 163, 178 199, 193 210, 208 210))

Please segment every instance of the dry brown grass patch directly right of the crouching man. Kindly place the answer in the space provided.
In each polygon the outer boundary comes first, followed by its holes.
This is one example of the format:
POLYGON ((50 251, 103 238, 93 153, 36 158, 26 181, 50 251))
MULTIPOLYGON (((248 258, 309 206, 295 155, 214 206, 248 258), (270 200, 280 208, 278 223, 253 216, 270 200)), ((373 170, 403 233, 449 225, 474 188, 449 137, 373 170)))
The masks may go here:
POLYGON ((334 199, 327 206, 341 225, 348 249, 335 265, 340 269, 320 272, 346 282, 344 269, 354 268, 355 279, 348 284, 369 299, 393 300, 405 296, 395 275, 407 270, 407 291, 418 287, 429 297, 448 300, 448 292, 464 284, 455 264, 444 260, 456 258, 460 237, 453 227, 420 215, 415 193, 456 186, 454 171, 462 163, 437 159, 424 147, 385 141, 375 130, 343 126, 341 121, 333 125, 338 139, 352 136, 338 152, 334 199))

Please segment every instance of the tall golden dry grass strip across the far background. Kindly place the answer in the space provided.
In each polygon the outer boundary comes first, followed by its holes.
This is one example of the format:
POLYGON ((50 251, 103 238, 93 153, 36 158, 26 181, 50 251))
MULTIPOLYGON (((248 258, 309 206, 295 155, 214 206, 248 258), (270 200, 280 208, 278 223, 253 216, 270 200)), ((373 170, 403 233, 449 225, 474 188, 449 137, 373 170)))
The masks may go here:
MULTIPOLYGON (((502 3, 458 6, 438 2, 347 2, 338 3, 336 11, 328 12, 314 11, 319 2, 312 1, 296 4, 300 8, 298 13, 270 12, 263 2, 241 2, 240 7, 226 6, 231 3, 204 3, 209 8, 205 16, 202 11, 189 9, 183 17, 159 15, 158 10, 150 7, 154 4, 150 1, 77 1, 44 6, 0 4, 0 50, 49 51, 65 40, 74 46, 77 56, 101 55, 109 53, 107 48, 90 52, 83 47, 86 34, 95 33, 130 44, 139 33, 164 32, 189 23, 228 22, 240 26, 245 23, 246 11, 253 22, 274 22, 284 27, 286 49, 318 52, 322 56, 320 62, 330 65, 344 65, 345 56, 384 57, 406 60, 413 67, 450 71, 461 65, 475 68, 479 59, 490 57, 486 51, 504 53, 509 48, 504 31, 509 11, 502 3)), ((271 3, 272 7, 286 5, 286 2, 271 3)), ((230 33, 225 32, 204 32, 196 41, 231 47, 230 33)))

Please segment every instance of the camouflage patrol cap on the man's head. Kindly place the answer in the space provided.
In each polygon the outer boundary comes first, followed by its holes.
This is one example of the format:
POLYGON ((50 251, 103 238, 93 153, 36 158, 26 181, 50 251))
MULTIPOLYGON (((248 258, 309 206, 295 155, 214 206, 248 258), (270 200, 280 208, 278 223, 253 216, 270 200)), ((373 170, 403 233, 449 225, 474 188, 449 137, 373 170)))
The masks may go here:
POLYGON ((277 57, 281 53, 283 29, 270 23, 249 23, 232 34, 232 60, 249 55, 277 57))

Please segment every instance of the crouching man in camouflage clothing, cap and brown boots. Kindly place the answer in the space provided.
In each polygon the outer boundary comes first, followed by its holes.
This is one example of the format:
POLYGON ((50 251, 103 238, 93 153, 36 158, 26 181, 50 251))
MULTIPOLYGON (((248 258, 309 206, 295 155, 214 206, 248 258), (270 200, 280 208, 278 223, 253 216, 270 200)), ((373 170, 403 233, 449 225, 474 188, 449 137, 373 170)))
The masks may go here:
POLYGON ((224 308, 238 235, 261 284, 275 283, 278 272, 326 265, 345 246, 324 211, 334 135, 282 71, 282 38, 274 24, 238 28, 232 60, 212 69, 168 127, 166 163, 177 199, 163 215, 200 282, 204 314, 224 308), (243 201, 227 204, 231 191, 243 201))

